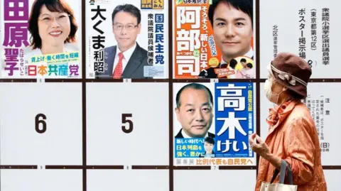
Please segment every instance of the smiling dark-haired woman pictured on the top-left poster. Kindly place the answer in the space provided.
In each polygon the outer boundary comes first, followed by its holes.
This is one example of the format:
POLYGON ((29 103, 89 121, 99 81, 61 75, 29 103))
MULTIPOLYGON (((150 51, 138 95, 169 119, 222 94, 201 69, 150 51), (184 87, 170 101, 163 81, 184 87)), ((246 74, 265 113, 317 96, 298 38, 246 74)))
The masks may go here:
POLYGON ((31 56, 79 50, 76 44, 78 30, 75 13, 67 1, 33 1, 28 19, 31 45, 25 50, 26 60, 31 56))

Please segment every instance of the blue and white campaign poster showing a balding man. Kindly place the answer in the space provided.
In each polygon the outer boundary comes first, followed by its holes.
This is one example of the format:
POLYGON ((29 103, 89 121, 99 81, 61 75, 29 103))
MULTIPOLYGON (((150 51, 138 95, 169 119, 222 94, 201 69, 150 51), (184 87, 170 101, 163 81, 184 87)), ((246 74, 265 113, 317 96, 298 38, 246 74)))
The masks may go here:
POLYGON ((174 165, 256 165, 254 97, 249 82, 174 84, 174 165))

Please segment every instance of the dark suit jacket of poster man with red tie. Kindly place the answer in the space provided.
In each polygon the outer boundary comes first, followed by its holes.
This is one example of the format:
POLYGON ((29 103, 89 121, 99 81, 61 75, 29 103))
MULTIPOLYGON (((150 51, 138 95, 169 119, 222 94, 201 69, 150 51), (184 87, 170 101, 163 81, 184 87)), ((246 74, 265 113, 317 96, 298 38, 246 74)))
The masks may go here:
MULTIPOLYGON (((99 79, 111 79, 114 67, 115 55, 116 55, 116 45, 104 48, 104 62, 108 65, 108 70, 104 72, 96 73, 96 77, 99 79)), ((141 48, 138 43, 136 43, 136 48, 134 53, 131 55, 124 71, 122 72, 121 78, 138 78, 146 79, 152 77, 144 77, 144 66, 148 65, 148 55, 147 50, 141 48)))

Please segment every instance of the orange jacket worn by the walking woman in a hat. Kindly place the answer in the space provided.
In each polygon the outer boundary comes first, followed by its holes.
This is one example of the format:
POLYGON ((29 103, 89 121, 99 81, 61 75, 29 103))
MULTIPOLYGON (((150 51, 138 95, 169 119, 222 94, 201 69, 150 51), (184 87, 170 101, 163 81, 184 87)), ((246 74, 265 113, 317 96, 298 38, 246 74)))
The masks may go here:
MULTIPOLYGON (((266 121, 269 133, 265 142, 271 153, 291 165, 297 191, 327 191, 321 165, 320 141, 308 107, 301 101, 289 101, 270 109, 266 121)), ((259 158, 255 191, 259 191, 262 181, 271 182, 274 170, 274 165, 259 158)), ((279 175, 274 182, 278 182, 278 179, 279 175)), ((288 183, 287 179, 285 183, 288 183)))

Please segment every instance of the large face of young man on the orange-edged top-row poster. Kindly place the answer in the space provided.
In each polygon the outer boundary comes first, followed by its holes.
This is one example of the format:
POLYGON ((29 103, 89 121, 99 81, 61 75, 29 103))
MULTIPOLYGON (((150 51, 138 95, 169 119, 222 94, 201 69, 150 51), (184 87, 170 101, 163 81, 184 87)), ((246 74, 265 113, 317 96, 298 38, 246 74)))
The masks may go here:
POLYGON ((228 58, 242 56, 251 48, 251 18, 229 4, 220 3, 215 9, 213 33, 222 55, 228 58))

